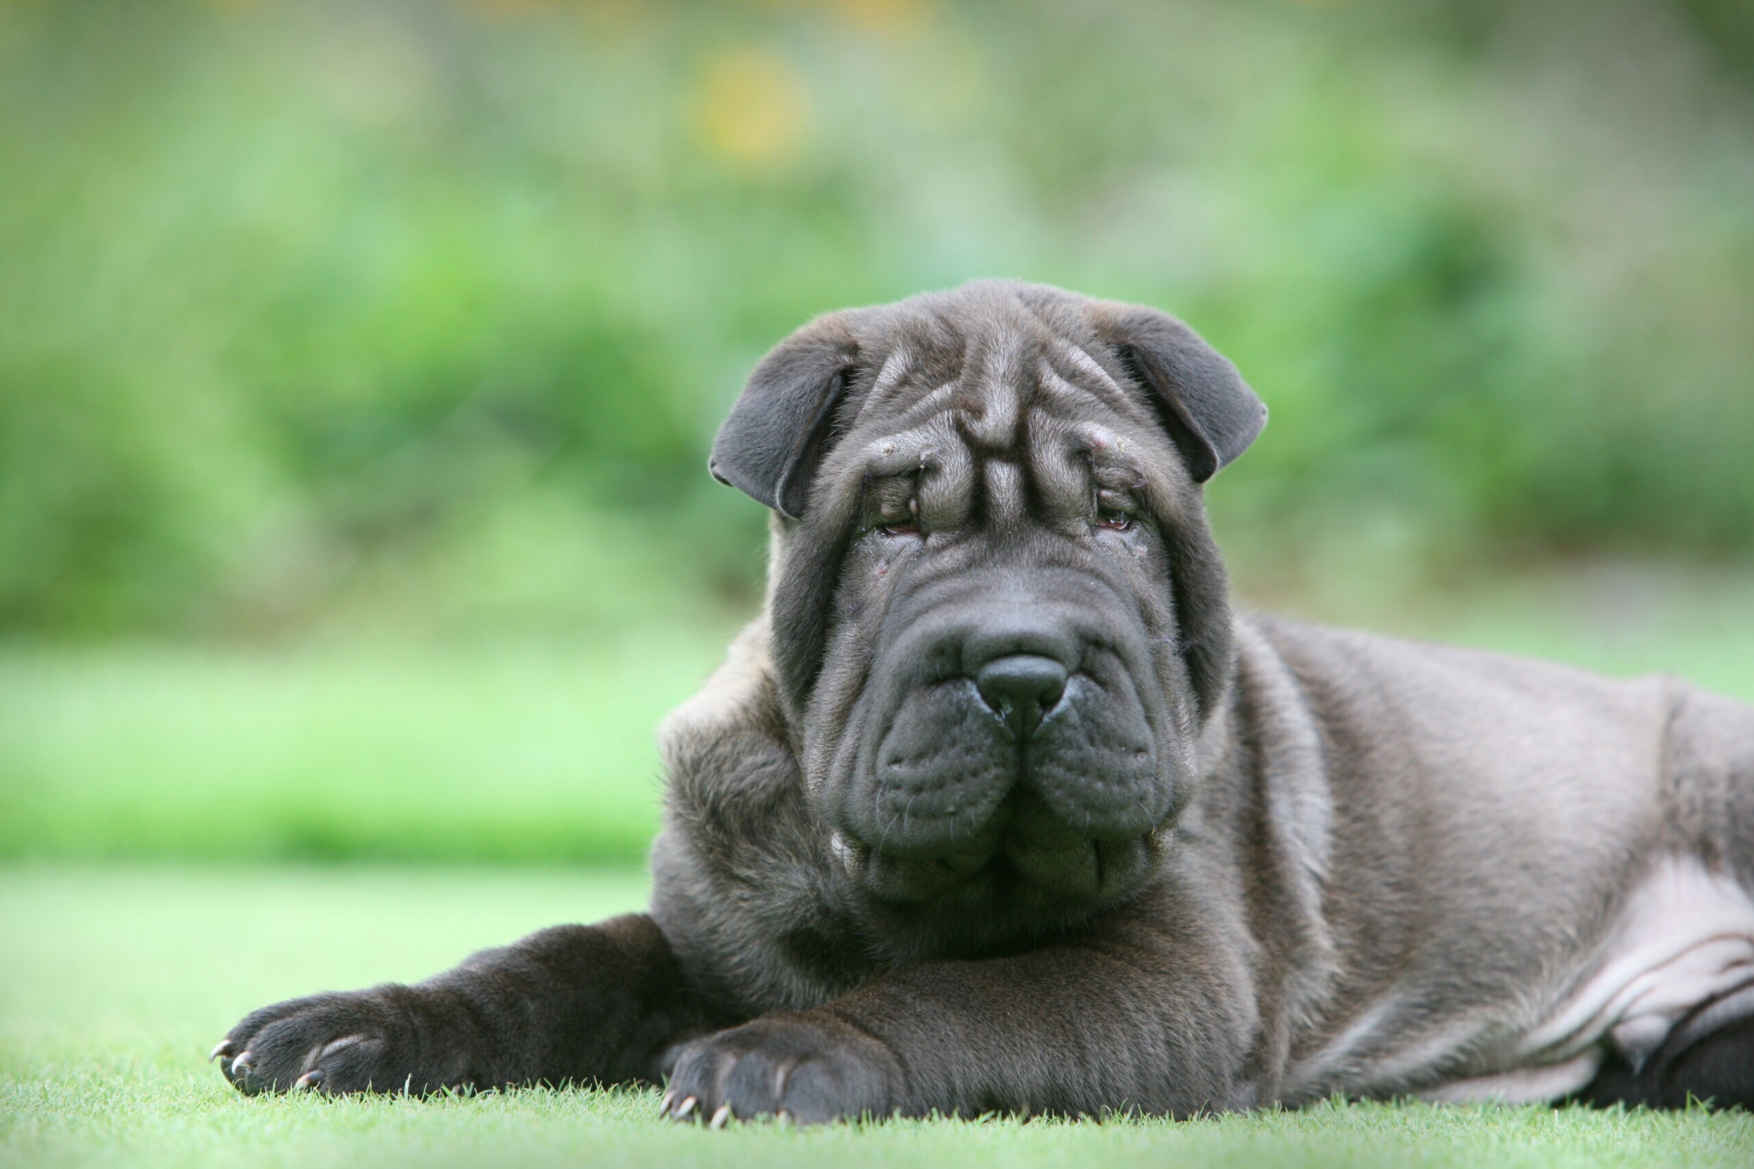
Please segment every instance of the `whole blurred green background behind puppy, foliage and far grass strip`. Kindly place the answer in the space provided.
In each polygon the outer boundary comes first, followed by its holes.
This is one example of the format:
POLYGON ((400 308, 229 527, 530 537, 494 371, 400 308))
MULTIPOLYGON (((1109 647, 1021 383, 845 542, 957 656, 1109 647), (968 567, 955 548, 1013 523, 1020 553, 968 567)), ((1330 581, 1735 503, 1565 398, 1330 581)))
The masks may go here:
POLYGON ((807 317, 1166 307, 1256 605, 1754 698, 1742 0, 0 2, 0 855, 624 861, 807 317))

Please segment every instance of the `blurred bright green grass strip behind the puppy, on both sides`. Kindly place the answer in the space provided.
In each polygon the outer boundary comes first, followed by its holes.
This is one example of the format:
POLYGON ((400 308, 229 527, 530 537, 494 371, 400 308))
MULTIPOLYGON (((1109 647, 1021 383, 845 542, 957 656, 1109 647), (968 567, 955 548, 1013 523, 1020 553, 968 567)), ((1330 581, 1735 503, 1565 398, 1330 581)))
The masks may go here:
MULTIPOLYGON (((1386 570, 1291 596, 1238 577, 1263 608, 1754 701, 1747 570, 1573 568, 1449 594, 1386 570)), ((654 727, 730 633, 0 648, 0 857, 635 862, 658 822, 654 727)))

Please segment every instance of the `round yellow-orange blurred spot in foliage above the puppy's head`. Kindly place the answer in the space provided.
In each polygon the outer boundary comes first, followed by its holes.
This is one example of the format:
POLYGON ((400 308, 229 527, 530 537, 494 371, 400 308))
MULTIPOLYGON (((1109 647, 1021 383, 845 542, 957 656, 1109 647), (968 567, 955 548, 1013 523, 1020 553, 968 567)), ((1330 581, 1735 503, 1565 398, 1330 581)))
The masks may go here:
POLYGON ((810 112, 798 72, 763 49, 728 49, 707 58, 695 84, 700 144, 742 166, 772 166, 796 154, 810 112))

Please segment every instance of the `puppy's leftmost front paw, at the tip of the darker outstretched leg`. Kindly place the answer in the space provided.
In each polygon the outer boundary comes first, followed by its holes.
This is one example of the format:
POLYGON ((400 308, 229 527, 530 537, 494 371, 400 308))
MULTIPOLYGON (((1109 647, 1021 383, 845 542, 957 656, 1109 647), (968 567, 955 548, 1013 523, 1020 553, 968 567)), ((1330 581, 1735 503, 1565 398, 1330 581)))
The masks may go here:
POLYGON ((444 1004, 417 987, 317 994, 265 1006, 212 1059, 235 1088, 258 1092, 435 1092, 468 1081, 468 1045, 444 1004))

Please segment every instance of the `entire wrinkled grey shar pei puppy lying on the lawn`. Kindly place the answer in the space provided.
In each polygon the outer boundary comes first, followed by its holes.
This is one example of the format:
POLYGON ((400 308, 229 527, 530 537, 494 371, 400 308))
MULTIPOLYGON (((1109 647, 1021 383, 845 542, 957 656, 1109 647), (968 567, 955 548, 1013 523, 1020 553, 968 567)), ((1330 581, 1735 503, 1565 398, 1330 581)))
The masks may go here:
POLYGON ((663 1113, 1754 1102, 1754 710, 1238 615, 1266 410, 1163 312, 833 312, 712 473, 761 615, 661 727, 651 910, 267 1006, 244 1092, 667 1083, 663 1113))

